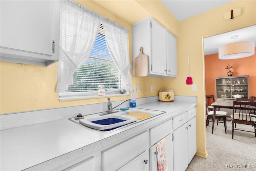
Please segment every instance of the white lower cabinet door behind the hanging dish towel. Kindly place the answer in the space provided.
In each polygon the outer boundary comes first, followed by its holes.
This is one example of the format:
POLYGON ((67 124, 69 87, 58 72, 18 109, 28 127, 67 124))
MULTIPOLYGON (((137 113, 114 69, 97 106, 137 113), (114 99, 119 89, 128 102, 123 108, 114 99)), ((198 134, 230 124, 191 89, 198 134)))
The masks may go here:
MULTIPOLYGON (((173 144, 172 144, 172 134, 166 136, 166 157, 168 164, 168 171, 173 171, 173 144)), ((156 160, 156 145, 153 145, 149 150, 150 155, 150 171, 157 171, 157 160, 156 160)))

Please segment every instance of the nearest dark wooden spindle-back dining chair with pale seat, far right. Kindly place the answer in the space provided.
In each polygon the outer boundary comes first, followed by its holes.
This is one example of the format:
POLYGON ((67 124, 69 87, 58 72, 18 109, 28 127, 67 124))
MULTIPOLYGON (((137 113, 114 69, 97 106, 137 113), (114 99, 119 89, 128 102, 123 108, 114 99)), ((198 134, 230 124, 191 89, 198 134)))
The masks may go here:
MULTIPOLYGON (((230 115, 232 122, 232 139, 234 139, 234 130, 240 130, 234 128, 234 124, 245 124, 254 126, 254 134, 256 137, 256 115, 251 114, 251 110, 256 111, 256 102, 244 102, 234 101, 233 102, 233 114, 230 115)), ((240 130, 246 132, 252 132, 248 130, 240 130)))

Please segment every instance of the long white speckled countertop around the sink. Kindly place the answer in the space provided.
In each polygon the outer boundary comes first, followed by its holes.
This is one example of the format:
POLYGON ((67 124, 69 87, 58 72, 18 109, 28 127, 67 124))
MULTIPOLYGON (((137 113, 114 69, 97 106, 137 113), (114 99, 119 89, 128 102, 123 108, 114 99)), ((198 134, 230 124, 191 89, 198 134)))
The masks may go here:
POLYGON ((89 153, 104 146, 103 140, 115 142, 116 140, 110 137, 122 139, 123 136, 134 134, 136 129, 142 129, 142 126, 146 126, 145 123, 149 123, 150 120, 159 122, 166 117, 170 118, 180 112, 186 112, 194 106, 196 102, 183 101, 151 102, 138 105, 137 108, 161 110, 166 113, 107 134, 99 134, 68 119, 2 130, 0 169, 2 171, 22 170, 71 151, 92 146, 93 148, 87 150, 89 153))

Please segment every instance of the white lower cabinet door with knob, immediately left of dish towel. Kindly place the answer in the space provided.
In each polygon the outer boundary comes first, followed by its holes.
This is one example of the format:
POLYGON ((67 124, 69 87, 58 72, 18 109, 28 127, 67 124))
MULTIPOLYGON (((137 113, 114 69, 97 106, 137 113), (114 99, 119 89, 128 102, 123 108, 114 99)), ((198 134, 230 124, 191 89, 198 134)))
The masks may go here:
POLYGON ((138 157, 124 165, 124 167, 118 169, 118 171, 148 171, 148 151, 144 151, 138 157))

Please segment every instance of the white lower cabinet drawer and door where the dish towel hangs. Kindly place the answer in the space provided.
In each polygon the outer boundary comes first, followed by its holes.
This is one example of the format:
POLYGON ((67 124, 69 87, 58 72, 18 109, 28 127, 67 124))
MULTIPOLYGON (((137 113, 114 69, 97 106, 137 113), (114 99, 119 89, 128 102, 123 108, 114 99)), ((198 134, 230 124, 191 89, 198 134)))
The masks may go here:
MULTIPOLYGON (((168 120, 154 128, 149 129, 149 144, 152 146, 160 140, 165 140, 166 158, 168 171, 173 171, 173 144, 172 144, 172 120, 168 120)), ((156 145, 150 147, 150 171, 157 170, 157 153, 156 145)))

